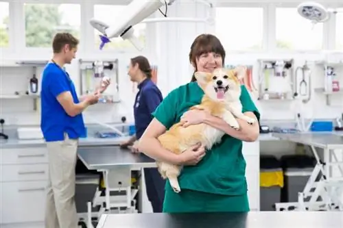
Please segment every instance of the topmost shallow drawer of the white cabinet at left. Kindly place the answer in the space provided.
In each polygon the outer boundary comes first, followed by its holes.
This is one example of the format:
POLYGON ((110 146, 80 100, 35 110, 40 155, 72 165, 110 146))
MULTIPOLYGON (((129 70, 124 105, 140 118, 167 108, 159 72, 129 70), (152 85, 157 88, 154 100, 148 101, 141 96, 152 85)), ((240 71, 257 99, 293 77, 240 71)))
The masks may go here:
POLYGON ((45 147, 1 149, 0 155, 0 164, 47 163, 47 149, 45 147))

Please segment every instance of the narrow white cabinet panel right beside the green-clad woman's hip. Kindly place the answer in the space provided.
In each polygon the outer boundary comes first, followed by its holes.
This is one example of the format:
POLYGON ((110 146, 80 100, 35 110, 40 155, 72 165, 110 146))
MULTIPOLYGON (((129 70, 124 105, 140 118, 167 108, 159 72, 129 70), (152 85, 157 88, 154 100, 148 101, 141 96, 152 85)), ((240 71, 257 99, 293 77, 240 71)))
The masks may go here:
POLYGON ((246 160, 250 210, 259 211, 259 140, 243 142, 243 155, 246 160))

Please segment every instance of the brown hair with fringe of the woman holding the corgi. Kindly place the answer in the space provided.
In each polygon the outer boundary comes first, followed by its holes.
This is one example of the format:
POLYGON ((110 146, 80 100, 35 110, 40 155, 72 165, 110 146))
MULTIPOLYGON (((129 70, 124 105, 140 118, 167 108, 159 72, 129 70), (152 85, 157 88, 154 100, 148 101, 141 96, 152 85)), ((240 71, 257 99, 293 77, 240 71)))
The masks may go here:
MULTIPOLYGON (((212 34, 201 34, 199 35, 191 45, 191 51, 189 52, 189 62, 194 66, 194 72, 198 71, 198 67, 196 66, 196 59, 200 58, 200 55, 204 53, 217 53, 222 55, 223 65, 225 62, 225 50, 220 42, 220 40, 213 36, 212 34)), ((192 76, 191 81, 196 81, 196 77, 192 76)))

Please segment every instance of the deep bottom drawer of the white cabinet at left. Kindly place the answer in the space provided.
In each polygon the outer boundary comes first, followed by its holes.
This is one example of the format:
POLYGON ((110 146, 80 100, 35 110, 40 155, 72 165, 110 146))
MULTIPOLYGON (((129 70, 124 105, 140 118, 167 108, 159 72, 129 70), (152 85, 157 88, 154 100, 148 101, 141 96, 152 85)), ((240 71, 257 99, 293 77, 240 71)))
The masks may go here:
POLYGON ((0 183, 0 223, 42 222, 46 181, 0 183))

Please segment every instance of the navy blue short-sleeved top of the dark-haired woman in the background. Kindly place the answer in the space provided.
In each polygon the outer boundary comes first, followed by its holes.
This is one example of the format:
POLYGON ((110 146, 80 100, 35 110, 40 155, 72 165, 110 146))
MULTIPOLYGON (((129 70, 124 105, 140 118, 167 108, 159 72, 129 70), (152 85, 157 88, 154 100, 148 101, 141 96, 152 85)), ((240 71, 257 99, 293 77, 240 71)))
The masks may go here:
POLYGON ((136 138, 139 140, 145 129, 152 121, 152 112, 163 100, 163 96, 158 87, 150 79, 145 79, 138 86, 134 101, 134 127, 136 127, 136 138))

